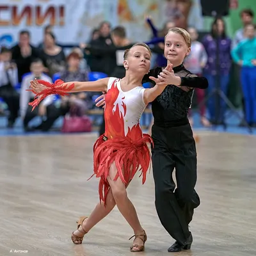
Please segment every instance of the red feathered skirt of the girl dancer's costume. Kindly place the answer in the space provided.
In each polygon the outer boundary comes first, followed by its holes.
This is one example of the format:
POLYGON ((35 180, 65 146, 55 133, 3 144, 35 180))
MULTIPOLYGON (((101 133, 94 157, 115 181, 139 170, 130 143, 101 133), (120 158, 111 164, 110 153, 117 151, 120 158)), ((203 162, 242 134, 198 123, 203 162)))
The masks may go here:
POLYGON ((138 141, 132 141, 127 137, 104 141, 103 136, 100 136, 93 145, 93 175, 100 178, 99 197, 100 201, 106 204, 106 196, 110 188, 107 177, 111 164, 115 161, 117 168, 115 180, 120 177, 124 184, 128 184, 135 173, 141 170, 140 177, 142 175, 142 184, 144 184, 151 163, 147 143, 153 144, 153 141, 148 134, 143 134, 138 141))

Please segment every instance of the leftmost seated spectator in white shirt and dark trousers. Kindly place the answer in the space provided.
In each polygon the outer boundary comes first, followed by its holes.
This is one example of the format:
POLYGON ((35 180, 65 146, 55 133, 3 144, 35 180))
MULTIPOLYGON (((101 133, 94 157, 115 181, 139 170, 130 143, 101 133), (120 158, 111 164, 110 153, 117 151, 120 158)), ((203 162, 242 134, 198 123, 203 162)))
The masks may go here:
POLYGON ((17 65, 12 62, 12 51, 5 47, 0 51, 0 97, 6 102, 10 114, 8 127, 12 128, 19 112, 19 93, 14 86, 18 84, 17 65))

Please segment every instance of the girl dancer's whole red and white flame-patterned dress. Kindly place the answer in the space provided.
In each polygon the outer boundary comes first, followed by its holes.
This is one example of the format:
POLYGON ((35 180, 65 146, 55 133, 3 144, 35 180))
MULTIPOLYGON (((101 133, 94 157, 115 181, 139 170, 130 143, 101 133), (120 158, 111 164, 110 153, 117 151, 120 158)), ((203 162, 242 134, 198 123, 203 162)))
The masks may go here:
POLYGON ((137 86, 124 92, 120 79, 109 78, 104 109, 105 134, 93 146, 93 171, 100 178, 99 196, 103 202, 109 191, 107 177, 113 162, 118 171, 115 179, 120 177, 124 184, 129 184, 138 170, 143 184, 146 180, 153 141, 140 127, 140 118, 146 108, 144 91, 143 86, 137 86))

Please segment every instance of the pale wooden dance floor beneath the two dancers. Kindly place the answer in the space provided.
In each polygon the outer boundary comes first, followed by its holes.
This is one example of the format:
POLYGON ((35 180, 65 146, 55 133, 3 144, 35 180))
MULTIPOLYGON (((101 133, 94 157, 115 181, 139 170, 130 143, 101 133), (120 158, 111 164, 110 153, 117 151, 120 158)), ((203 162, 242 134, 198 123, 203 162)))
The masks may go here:
MULTIPOLYGON (((145 252, 136 255, 256 255, 256 137, 199 135, 201 205, 190 224, 191 250, 167 252, 173 239, 157 218, 151 171, 143 186, 136 175, 128 189, 148 234, 145 252)), ((0 255, 18 250, 31 256, 134 254, 129 252, 132 230, 116 208, 83 244, 70 239, 77 217, 90 214, 99 200, 98 180, 87 180, 95 139, 95 134, 1 137, 0 255)))

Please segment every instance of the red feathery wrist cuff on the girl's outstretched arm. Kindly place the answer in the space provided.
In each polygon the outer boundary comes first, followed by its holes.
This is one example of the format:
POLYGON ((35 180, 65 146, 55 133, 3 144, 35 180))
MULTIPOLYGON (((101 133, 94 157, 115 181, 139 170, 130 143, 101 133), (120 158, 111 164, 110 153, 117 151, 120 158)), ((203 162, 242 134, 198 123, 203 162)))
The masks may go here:
POLYGON ((35 98, 34 98, 35 100, 33 100, 33 102, 29 102, 29 105, 33 107, 32 111, 47 96, 49 96, 51 94, 58 94, 58 95, 61 95, 61 96, 66 96, 66 95, 68 95, 67 92, 72 90, 75 86, 74 83, 70 84, 69 86, 68 86, 68 84, 63 86, 64 82, 61 79, 56 80, 54 84, 51 84, 51 83, 49 83, 47 81, 44 81, 44 80, 38 80, 38 83, 44 84, 44 86, 45 86, 45 89, 42 90, 42 92, 36 93, 32 89, 26 90, 26 91, 35 93, 35 98))

